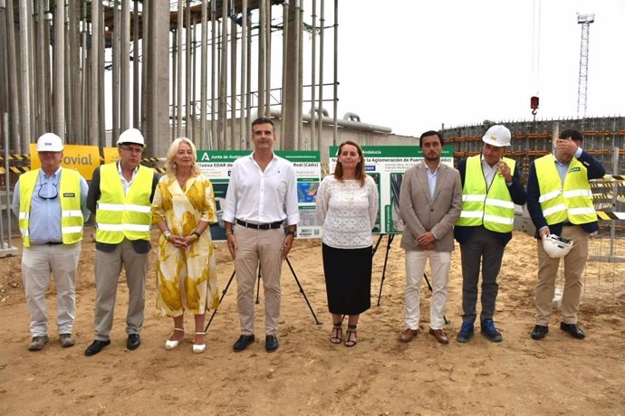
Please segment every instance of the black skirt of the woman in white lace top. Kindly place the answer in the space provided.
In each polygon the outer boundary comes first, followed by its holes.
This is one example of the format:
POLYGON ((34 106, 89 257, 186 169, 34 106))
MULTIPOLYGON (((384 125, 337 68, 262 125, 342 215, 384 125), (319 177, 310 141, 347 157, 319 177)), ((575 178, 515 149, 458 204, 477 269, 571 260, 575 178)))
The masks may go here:
POLYGON ((334 249, 322 245, 328 309, 358 315, 371 307, 371 247, 334 249))

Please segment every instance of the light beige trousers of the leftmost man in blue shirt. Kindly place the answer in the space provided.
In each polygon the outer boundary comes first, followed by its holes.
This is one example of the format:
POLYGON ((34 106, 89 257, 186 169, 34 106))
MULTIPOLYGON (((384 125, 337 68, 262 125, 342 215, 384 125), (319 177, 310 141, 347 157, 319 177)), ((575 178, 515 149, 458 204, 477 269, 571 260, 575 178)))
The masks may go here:
POLYGON ((81 257, 81 243, 31 245, 22 252, 22 283, 31 316, 32 336, 48 335, 45 291, 54 276, 56 288, 56 325, 59 334, 72 334, 76 317, 76 268, 81 257))

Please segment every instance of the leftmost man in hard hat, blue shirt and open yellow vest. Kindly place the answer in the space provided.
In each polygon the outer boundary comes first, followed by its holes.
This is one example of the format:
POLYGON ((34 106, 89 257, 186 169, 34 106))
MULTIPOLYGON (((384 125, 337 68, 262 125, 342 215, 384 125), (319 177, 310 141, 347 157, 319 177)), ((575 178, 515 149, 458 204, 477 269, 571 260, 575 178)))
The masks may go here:
POLYGON ((61 167, 63 141, 53 133, 37 140, 40 169, 21 175, 15 184, 13 211, 22 234, 22 280, 31 317, 30 351, 47 344, 48 313, 45 291, 54 276, 59 341, 75 344, 76 268, 81 256, 82 224, 89 218, 87 181, 78 172, 61 167))

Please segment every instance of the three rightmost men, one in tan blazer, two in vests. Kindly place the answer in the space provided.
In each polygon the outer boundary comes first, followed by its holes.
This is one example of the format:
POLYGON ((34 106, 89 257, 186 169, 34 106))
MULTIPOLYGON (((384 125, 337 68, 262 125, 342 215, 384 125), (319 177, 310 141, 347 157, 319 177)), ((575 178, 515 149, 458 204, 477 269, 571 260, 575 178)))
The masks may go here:
POLYGON ((512 239, 514 205, 527 203, 536 227, 538 283, 535 323, 531 337, 548 332, 555 280, 561 257, 543 248, 550 234, 572 240, 572 250, 562 254, 564 289, 560 327, 573 337, 585 334, 577 322, 583 270, 588 259, 591 232, 598 230, 590 179, 605 175, 601 163, 582 150, 582 134, 563 130, 553 153, 530 165, 527 191, 520 183, 518 165, 505 157, 510 146, 508 128, 495 125, 486 131, 482 152, 467 157, 458 169, 440 163, 443 137, 423 133, 420 146, 424 162, 410 168, 400 190, 400 216, 405 222, 401 247, 406 251, 406 329, 399 340, 409 342, 418 333, 419 288, 426 260, 432 273, 429 334, 448 344, 443 331, 447 303, 449 256, 453 238, 460 246, 462 263, 462 326, 456 340, 468 342, 475 332, 478 282, 481 274, 480 332, 492 342, 503 336, 494 322, 495 301, 505 245, 512 239))

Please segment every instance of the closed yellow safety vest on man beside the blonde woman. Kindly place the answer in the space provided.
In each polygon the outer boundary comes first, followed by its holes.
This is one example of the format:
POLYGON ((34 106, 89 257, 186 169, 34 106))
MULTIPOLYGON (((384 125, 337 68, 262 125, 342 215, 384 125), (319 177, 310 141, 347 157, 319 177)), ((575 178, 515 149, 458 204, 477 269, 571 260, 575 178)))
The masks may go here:
POLYGON ((100 192, 95 221, 98 230, 95 241, 118 244, 124 237, 129 240, 149 241, 152 209, 154 169, 139 165, 128 194, 124 194, 117 163, 101 165, 100 192))

